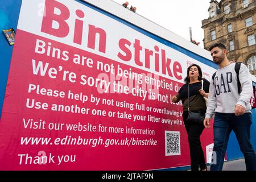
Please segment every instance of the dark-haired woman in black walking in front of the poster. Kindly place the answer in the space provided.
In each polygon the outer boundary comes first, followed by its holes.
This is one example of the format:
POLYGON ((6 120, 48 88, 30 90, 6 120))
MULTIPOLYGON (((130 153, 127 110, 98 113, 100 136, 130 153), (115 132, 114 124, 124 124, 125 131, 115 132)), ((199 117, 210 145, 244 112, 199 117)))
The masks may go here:
POLYGON ((187 118, 188 108, 194 113, 206 113, 207 105, 205 104, 204 97, 208 97, 210 82, 203 78, 202 70, 199 65, 196 64, 192 64, 188 67, 187 77, 184 81, 185 84, 180 88, 176 96, 172 96, 172 102, 176 103, 181 100, 183 104, 183 121, 188 133, 191 170, 198 171, 200 167, 201 171, 206 171, 207 166, 205 164, 204 152, 200 141, 200 135, 204 130, 203 122, 201 122, 200 118, 198 118, 200 121, 189 122, 187 118))

